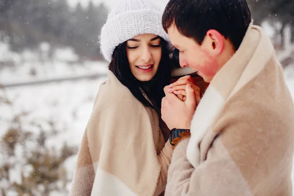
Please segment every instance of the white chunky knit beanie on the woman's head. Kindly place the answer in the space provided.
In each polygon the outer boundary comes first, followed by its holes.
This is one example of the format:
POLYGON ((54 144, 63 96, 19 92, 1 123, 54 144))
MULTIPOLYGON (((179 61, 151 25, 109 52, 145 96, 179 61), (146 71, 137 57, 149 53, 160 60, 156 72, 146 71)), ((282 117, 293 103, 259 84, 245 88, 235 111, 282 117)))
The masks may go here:
POLYGON ((151 0, 118 0, 100 34, 100 49, 104 58, 110 62, 119 44, 139 34, 152 33, 169 41, 161 25, 162 13, 151 0))

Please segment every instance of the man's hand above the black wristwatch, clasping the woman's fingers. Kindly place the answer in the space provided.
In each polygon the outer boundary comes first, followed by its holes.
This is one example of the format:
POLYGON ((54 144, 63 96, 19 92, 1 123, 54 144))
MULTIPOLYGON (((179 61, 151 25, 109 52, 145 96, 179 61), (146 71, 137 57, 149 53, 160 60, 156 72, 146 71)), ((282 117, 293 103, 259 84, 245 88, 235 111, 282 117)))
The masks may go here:
POLYGON ((185 86, 186 100, 181 101, 173 93, 169 93, 169 86, 164 88, 166 97, 161 102, 161 118, 169 129, 190 129, 191 121, 196 110, 195 91, 191 84, 185 86))

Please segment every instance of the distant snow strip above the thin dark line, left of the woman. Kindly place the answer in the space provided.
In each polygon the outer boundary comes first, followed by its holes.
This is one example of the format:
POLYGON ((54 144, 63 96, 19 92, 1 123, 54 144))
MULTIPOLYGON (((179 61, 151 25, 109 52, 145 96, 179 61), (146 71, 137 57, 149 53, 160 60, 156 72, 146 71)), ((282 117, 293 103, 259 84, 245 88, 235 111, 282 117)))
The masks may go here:
POLYGON ((55 49, 48 59, 49 46, 40 44, 37 51, 25 50, 21 54, 9 50, 8 44, 0 42, 0 83, 11 84, 40 79, 106 73, 107 64, 98 61, 79 61, 71 48, 55 49))

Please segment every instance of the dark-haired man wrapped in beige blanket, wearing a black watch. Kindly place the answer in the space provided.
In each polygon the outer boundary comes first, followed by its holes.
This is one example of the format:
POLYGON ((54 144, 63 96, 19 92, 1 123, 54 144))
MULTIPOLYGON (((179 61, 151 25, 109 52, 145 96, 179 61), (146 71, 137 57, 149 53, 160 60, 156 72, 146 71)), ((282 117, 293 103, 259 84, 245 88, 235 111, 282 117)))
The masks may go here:
POLYGON ((176 144, 166 195, 292 196, 294 104, 246 1, 170 0, 162 24, 181 67, 210 83, 198 105, 190 84, 184 102, 172 93, 180 80, 165 87, 176 144))

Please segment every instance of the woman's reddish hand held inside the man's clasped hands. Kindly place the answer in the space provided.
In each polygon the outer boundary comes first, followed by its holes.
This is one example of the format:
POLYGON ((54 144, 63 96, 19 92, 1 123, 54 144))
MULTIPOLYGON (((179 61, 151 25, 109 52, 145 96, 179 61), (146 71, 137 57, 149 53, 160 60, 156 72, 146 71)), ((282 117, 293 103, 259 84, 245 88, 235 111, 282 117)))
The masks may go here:
POLYGON ((201 89, 196 85, 191 75, 185 75, 179 78, 176 82, 172 83, 169 86, 170 89, 168 90, 168 92, 175 94, 180 100, 185 101, 186 100, 185 89, 187 84, 191 84, 193 90, 195 91, 196 102, 198 105, 201 98, 201 89))

